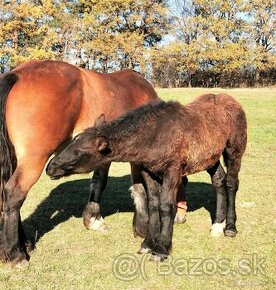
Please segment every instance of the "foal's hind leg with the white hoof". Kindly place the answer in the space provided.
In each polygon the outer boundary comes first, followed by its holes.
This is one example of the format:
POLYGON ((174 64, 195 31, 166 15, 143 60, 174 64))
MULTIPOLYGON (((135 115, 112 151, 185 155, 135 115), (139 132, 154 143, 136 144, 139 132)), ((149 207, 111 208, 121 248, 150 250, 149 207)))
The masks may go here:
POLYGON ((216 217, 212 225, 211 235, 217 237, 223 234, 224 221, 226 219, 226 174, 219 161, 208 169, 207 172, 211 176, 212 184, 216 191, 216 217))

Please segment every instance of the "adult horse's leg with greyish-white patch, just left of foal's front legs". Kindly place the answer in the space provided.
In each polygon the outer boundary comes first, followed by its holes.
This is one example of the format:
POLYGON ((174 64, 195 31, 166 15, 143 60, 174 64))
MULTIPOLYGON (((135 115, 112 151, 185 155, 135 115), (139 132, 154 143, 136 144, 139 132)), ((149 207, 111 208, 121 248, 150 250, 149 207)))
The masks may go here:
POLYGON ((133 185, 129 188, 129 191, 131 192, 135 206, 132 222, 133 234, 134 237, 140 236, 145 238, 149 220, 147 193, 145 190, 146 185, 140 165, 131 163, 130 166, 133 185))

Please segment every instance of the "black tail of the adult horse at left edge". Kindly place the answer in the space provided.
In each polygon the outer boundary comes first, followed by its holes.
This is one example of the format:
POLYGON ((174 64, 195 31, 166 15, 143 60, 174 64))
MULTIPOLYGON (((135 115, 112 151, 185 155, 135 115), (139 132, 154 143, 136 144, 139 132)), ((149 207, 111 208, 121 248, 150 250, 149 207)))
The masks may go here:
MULTIPOLYGON (((15 73, 7 73, 0 76, 0 201, 1 199, 3 201, 5 184, 13 174, 17 162, 15 150, 8 135, 5 117, 7 97, 17 80, 18 76, 15 73)), ((2 206, 1 202, 1 212, 2 206)))

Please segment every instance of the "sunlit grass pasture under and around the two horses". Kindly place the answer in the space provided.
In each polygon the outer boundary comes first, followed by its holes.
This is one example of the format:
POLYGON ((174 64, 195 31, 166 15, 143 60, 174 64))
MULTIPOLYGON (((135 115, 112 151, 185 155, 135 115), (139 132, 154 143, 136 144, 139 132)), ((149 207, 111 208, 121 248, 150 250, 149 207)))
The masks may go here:
MULTIPOLYGON (((37 236, 28 268, 0 265, 0 289, 276 289, 276 89, 160 89, 185 104, 205 92, 237 97, 248 118, 248 146, 237 195, 236 238, 212 238, 215 200, 206 173, 189 178, 187 222, 175 225, 167 262, 136 255, 129 165, 113 164, 101 203, 107 234, 88 231, 81 213, 90 175, 51 181, 44 173, 22 208, 37 236)), ((219 124, 218 124, 219 126, 219 124)))

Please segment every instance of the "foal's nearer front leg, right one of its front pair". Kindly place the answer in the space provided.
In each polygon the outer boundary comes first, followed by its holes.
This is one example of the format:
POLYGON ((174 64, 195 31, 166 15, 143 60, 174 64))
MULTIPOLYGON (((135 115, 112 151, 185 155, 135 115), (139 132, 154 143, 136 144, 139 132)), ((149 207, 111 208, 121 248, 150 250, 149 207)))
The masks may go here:
POLYGON ((163 261, 169 255, 172 246, 173 224, 176 214, 176 196, 181 182, 181 171, 169 168, 163 177, 159 193, 159 214, 161 231, 152 249, 152 260, 163 261))

